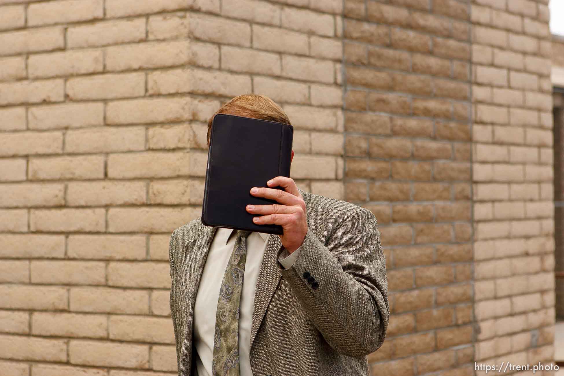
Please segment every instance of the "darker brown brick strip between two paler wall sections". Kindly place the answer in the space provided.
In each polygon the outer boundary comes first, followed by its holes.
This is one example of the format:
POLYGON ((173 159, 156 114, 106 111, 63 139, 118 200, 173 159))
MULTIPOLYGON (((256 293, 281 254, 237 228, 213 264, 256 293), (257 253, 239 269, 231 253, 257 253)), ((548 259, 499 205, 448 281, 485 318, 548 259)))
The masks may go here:
POLYGON ((374 375, 473 374, 469 20, 463 1, 345 1, 345 198, 388 269, 374 375))

